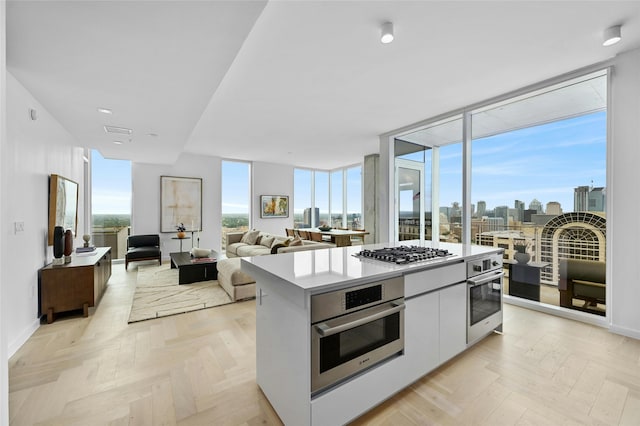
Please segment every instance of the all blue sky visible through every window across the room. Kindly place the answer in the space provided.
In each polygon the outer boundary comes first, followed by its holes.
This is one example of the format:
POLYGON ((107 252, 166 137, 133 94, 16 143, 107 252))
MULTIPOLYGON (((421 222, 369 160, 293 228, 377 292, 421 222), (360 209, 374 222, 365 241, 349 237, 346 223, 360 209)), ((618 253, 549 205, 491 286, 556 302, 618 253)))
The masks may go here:
MULTIPOLYGON (((544 206, 560 202, 563 211, 573 211, 573 189, 581 185, 606 186, 606 113, 598 112, 478 139, 472 145, 471 200, 482 200, 487 209, 516 199, 525 207, 536 198, 544 206)), ((462 201, 462 146, 441 148, 440 205, 462 201)), ((222 213, 248 213, 249 165, 222 163, 222 213)), ((334 188, 341 188, 334 173, 334 188)), ((328 173, 316 177, 316 200, 327 211, 328 173)), ((348 169, 347 212, 360 209, 360 169, 348 169)), ((131 163, 105 160, 92 151, 93 213, 130 214, 131 163)), ((160 181, 158 180, 158 185, 160 181)), ((296 170, 295 213, 310 204, 310 172, 296 170), (296 208, 297 207, 297 208, 296 208)), ((259 195, 259 194, 258 194, 259 195)), ((267 194, 265 194, 267 195, 267 194)), ((283 195, 283 194, 268 194, 283 195)), ((286 195, 286 194, 285 194, 286 195)), ((334 203, 341 193, 332 194, 334 203)), ((258 200, 253 200, 258 202, 258 200)))

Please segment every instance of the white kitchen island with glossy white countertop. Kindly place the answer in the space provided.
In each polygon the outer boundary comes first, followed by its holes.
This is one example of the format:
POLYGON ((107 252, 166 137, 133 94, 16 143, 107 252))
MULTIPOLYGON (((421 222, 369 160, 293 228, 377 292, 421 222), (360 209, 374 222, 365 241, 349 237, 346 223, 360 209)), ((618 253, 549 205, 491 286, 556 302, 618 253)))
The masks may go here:
MULTIPOLYGON (((501 249, 440 244, 452 255, 408 264, 354 256, 363 248, 384 246, 340 247, 242 259, 242 269, 256 280, 256 380, 285 424, 344 424, 467 348, 467 263, 489 254, 501 257, 498 254, 501 249), (375 293, 370 286, 384 283, 381 287, 386 290, 380 293, 390 293, 392 284, 396 286, 398 282, 404 297, 389 302, 394 306, 389 312, 393 310, 400 320, 388 324, 395 324, 402 334, 403 348, 331 386, 319 390, 314 387, 312 375, 316 372, 312 371, 312 358, 318 355, 317 348, 312 347, 313 335, 339 334, 344 327, 333 327, 332 321, 314 325, 314 298, 356 289, 352 293, 357 293, 359 299, 367 299, 373 297, 372 291, 375 293)), ((362 320, 354 323, 357 321, 362 320)), ((353 334, 340 336, 353 337, 353 334)), ((345 346, 345 341, 338 344, 345 346)), ((368 361, 365 356, 359 362, 368 361)))

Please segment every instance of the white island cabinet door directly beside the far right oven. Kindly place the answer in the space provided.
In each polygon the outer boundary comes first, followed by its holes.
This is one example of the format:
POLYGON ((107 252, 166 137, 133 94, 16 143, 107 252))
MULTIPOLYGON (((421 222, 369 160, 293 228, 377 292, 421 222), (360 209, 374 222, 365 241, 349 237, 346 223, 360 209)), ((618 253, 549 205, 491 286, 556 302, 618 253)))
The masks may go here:
POLYGON ((447 287, 440 293, 440 363, 467 348, 467 284, 447 287))

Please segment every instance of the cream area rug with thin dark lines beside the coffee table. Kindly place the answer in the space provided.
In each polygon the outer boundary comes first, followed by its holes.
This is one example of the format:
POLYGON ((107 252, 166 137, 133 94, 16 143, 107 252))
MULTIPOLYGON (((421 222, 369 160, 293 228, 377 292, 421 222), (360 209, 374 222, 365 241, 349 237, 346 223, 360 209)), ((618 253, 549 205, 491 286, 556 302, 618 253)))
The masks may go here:
POLYGON ((138 267, 129 323, 232 303, 218 281, 178 285, 178 270, 169 264, 138 267))

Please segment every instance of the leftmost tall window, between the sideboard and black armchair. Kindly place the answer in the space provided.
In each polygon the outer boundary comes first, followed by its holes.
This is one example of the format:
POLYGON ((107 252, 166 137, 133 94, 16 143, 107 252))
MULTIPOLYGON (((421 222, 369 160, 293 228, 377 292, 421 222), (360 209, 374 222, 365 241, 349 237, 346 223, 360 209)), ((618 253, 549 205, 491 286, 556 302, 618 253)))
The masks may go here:
POLYGON ((131 226, 131 161, 91 151, 91 245, 124 259, 131 226))

